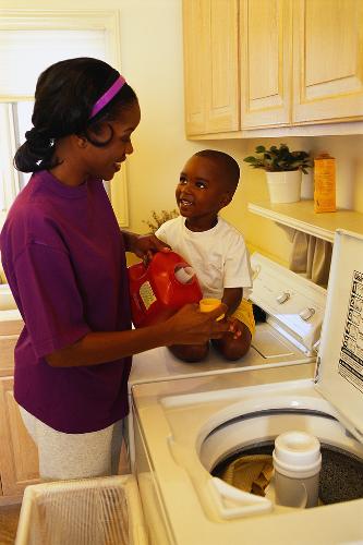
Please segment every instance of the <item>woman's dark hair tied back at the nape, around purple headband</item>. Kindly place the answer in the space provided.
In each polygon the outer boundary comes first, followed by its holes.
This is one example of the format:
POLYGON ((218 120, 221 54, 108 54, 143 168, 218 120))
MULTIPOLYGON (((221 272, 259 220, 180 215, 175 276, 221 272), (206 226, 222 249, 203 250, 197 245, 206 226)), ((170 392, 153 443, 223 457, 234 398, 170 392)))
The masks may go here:
POLYGON ((92 119, 95 102, 119 77, 107 62, 88 57, 68 59, 47 68, 38 77, 32 116, 33 129, 25 133, 25 143, 17 149, 14 166, 22 172, 36 172, 59 165, 53 144, 70 134, 84 135, 95 146, 107 145, 95 136, 101 124, 113 121, 137 97, 126 83, 92 119))

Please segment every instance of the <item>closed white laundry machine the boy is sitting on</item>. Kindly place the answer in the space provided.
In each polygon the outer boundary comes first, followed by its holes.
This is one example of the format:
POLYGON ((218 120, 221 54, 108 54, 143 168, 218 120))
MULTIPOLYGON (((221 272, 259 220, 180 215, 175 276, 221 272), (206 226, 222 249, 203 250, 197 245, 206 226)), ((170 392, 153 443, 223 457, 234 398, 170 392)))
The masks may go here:
MULTIPOLYGON (((211 349, 205 361, 184 363, 174 358, 166 347, 142 352, 133 358, 129 379, 130 405, 131 388, 136 384, 315 361, 326 290, 258 253, 253 254, 251 265, 254 282, 250 299, 262 310, 266 322, 256 324, 256 332, 247 354, 235 362, 228 362, 211 349)), ((131 411, 129 453, 132 468, 133 438, 131 411)))

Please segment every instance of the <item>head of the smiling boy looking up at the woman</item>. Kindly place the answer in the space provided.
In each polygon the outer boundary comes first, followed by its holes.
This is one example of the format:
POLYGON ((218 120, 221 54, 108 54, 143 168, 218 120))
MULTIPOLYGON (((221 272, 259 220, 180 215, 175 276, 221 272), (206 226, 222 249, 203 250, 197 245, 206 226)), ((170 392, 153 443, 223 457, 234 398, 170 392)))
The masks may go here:
POLYGON ((214 149, 197 152, 180 174, 176 191, 180 214, 209 229, 219 210, 232 201, 239 180, 240 167, 230 155, 214 149))

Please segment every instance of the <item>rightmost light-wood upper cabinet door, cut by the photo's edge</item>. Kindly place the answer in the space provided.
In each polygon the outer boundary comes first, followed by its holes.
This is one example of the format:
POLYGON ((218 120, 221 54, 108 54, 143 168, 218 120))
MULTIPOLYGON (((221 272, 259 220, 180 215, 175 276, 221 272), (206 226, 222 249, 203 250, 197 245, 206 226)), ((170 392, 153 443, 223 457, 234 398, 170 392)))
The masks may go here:
POLYGON ((294 0, 293 5, 293 121, 362 120, 362 0, 294 0))

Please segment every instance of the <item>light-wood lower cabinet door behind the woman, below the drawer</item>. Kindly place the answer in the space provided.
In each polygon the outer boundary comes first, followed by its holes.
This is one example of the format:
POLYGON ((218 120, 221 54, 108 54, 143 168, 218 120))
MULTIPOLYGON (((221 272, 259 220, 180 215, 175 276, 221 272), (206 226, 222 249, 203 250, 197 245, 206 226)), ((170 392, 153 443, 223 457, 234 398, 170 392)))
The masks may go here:
POLYGON ((37 448, 21 419, 12 377, 0 378, 0 475, 4 496, 39 482, 37 448))

